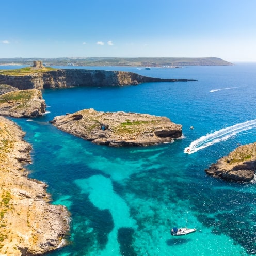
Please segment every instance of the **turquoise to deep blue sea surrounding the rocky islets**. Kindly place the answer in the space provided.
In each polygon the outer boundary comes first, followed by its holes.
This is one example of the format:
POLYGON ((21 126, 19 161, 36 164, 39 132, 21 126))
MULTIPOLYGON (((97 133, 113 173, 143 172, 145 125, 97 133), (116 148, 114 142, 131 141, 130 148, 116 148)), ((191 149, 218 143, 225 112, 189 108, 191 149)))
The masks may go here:
MULTIPOLYGON (((256 255, 256 181, 205 173, 219 158, 256 140, 256 63, 54 67, 197 81, 43 89, 44 116, 11 118, 33 146, 29 178, 47 183, 51 203, 71 213, 66 246, 47 256, 256 255), (162 145, 113 148, 49 122, 85 108, 166 116, 182 125, 183 136, 162 145), (197 231, 171 236, 172 227, 197 231)), ((1 67, 10 68, 20 67, 1 67)))

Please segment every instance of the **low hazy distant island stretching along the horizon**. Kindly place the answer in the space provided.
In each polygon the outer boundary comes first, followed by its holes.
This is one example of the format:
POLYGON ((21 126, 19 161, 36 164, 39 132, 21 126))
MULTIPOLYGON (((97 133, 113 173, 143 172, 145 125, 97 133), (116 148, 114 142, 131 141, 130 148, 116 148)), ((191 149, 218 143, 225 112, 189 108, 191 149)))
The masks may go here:
POLYGON ((63 57, 63 58, 0 58, 0 65, 31 65, 40 59, 45 66, 132 66, 176 68, 183 66, 230 66, 231 62, 216 57, 63 57))

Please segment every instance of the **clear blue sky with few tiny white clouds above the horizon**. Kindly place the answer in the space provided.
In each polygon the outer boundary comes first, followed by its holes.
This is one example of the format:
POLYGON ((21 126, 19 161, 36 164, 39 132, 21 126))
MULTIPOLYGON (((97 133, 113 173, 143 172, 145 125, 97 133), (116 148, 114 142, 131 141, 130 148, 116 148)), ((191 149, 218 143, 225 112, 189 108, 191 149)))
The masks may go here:
POLYGON ((256 0, 3 0, 0 58, 256 61, 256 0))

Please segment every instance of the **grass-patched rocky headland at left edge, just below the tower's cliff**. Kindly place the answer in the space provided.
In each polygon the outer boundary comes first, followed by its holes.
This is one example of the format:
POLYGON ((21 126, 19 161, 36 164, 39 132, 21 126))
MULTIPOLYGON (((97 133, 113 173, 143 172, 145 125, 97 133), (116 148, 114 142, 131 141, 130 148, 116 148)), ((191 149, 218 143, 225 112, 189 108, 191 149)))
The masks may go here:
POLYGON ((18 90, 0 95, 0 115, 36 117, 45 113, 46 104, 40 90, 18 90))

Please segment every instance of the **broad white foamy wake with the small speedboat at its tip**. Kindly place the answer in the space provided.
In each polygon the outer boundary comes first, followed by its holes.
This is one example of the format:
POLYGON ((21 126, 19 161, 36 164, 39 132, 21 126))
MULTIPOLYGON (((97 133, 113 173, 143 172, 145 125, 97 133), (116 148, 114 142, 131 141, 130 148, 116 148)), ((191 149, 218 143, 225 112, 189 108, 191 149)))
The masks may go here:
POLYGON ((220 129, 214 133, 202 136, 190 143, 189 147, 184 149, 184 153, 192 154, 200 149, 207 148, 215 143, 229 139, 237 133, 256 128, 256 119, 238 123, 227 128, 220 129))

